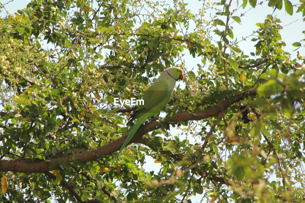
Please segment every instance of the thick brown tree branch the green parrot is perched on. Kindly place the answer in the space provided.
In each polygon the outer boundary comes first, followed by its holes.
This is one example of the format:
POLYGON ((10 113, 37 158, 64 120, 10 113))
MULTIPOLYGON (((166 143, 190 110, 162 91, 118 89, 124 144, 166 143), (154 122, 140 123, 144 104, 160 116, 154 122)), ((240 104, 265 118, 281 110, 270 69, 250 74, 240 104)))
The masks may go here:
MULTIPOLYGON (((216 104, 215 106, 209 109, 192 112, 192 113, 178 112, 172 119, 169 120, 169 122, 201 120, 201 119, 210 118, 212 116, 218 116, 221 111, 227 109, 232 104, 241 101, 249 94, 255 94, 255 93, 256 93, 256 88, 251 89, 249 93, 236 94, 234 99, 226 98, 224 101, 219 102, 218 104, 216 104)), ((142 136, 155 129, 157 129, 156 121, 151 121, 145 124, 142 130, 136 132, 136 134, 128 144, 141 143, 142 136)), ((49 167, 56 162, 64 162, 64 163, 70 162, 73 158, 79 159, 81 162, 84 163, 89 161, 94 161, 99 158, 99 154, 109 155, 119 150, 123 145, 125 139, 126 136, 120 137, 119 139, 109 142, 108 144, 102 147, 80 152, 75 155, 54 158, 48 161, 35 162, 34 160, 29 158, 2 160, 0 161, 0 171, 12 171, 19 173, 42 173, 42 172, 45 173, 49 171, 49 167)))

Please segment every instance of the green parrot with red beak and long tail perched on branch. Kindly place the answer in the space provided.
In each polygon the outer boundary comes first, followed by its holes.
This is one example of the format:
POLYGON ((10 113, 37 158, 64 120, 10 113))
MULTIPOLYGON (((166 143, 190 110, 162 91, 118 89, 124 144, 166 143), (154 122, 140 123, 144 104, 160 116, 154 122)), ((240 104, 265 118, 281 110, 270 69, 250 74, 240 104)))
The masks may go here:
POLYGON ((144 105, 139 105, 131 116, 131 120, 135 120, 135 124, 123 143, 120 151, 113 159, 111 165, 117 159, 122 149, 131 140, 138 128, 149 118, 157 117, 160 111, 170 101, 174 91, 176 81, 183 79, 182 69, 178 67, 170 67, 163 71, 157 80, 147 89, 143 96, 144 105))

